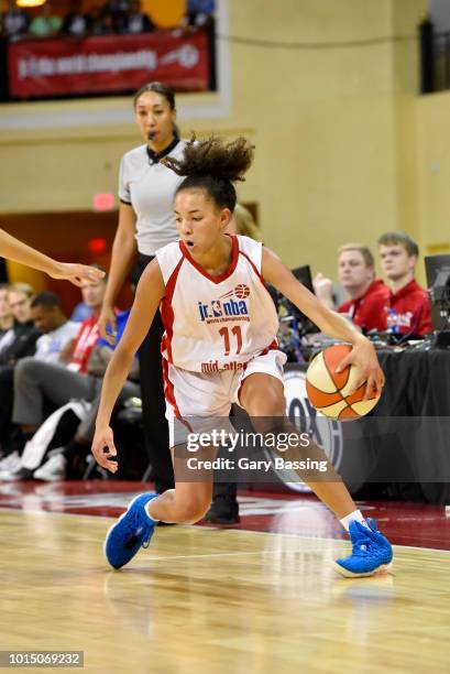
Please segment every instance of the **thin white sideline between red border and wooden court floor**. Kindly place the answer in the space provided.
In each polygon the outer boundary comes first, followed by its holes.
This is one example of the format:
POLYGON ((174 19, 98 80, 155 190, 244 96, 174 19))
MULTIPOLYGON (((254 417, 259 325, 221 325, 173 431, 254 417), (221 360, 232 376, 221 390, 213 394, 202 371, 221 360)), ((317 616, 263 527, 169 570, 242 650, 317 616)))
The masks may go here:
MULTIPOLYGON (((57 514, 57 515, 64 515, 64 517, 72 517, 72 518, 95 518, 96 520, 103 519, 103 520, 114 520, 116 518, 112 518, 111 515, 102 515, 102 514, 91 514, 91 513, 78 513, 78 512, 63 512, 63 511, 55 511, 55 510, 22 510, 21 508, 6 508, 4 506, 0 506, 0 511, 7 511, 7 512, 22 512, 22 513, 31 513, 31 514, 42 514, 42 515, 46 515, 46 514, 57 514)), ((219 526, 205 526, 205 525, 200 525, 200 524, 176 524, 176 526, 182 526, 183 529, 196 529, 198 531, 228 531, 228 532, 232 532, 232 533, 238 533, 238 534, 256 534, 256 535, 265 535, 265 536, 283 536, 285 539, 301 539, 301 540, 306 540, 306 541, 332 541, 333 543, 349 543, 348 539, 331 539, 330 536, 308 536, 305 534, 293 534, 293 533, 283 533, 283 532, 275 532, 275 531, 253 531, 251 529, 220 529, 219 526)), ((402 544, 395 544, 393 545, 394 548, 400 547, 404 550, 419 550, 419 551, 426 551, 426 552, 438 552, 438 553, 443 553, 447 555, 450 555, 450 550, 442 550, 441 547, 418 547, 417 545, 402 545, 402 544)), ((235 553, 224 553, 224 554, 235 554, 235 553)), ((237 553, 240 554, 240 553, 237 553)), ((172 559, 173 557, 167 557, 167 559, 172 559)))

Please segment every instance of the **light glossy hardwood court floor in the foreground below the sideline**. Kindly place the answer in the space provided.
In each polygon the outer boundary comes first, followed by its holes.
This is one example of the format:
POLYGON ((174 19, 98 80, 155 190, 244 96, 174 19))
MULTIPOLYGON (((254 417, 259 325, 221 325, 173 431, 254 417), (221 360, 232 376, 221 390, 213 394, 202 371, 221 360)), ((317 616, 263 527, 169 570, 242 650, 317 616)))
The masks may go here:
POLYGON ((83 650, 98 673, 449 671, 446 551, 398 546, 394 575, 349 580, 341 541, 167 526, 110 572, 111 521, 1 510, 2 650, 83 650))

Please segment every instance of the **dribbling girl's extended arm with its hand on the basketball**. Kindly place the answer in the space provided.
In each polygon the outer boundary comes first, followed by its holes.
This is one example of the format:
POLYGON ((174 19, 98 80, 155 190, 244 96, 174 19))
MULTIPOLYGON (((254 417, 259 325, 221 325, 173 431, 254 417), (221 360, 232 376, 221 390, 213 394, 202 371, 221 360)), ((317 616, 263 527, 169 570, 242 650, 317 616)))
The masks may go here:
POLYGON ((294 274, 271 250, 263 248, 262 273, 266 281, 272 283, 285 297, 315 323, 322 333, 349 341, 353 349, 342 360, 339 370, 348 365, 355 363, 360 369, 360 380, 355 383, 358 389, 364 381, 367 382, 365 396, 372 391, 381 394, 384 384, 384 374, 380 368, 378 359, 372 344, 343 316, 327 308, 310 293, 294 274))

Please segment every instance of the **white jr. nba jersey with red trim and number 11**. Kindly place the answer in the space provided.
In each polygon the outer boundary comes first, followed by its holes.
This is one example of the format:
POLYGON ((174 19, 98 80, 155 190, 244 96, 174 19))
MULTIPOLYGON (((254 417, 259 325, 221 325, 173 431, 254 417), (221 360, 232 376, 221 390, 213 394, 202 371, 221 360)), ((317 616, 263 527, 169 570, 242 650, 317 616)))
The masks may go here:
POLYGON ((278 317, 261 275, 262 243, 233 236, 232 260, 209 275, 178 241, 157 251, 166 294, 161 305, 166 360, 194 372, 243 370, 277 348, 278 317))

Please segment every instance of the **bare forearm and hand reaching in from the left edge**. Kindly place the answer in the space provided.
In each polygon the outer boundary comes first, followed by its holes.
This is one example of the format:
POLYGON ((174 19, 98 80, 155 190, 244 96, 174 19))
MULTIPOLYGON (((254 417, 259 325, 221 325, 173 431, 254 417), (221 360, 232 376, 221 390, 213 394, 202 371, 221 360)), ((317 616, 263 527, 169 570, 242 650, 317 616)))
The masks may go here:
POLYGON ((105 276, 100 269, 87 267, 86 264, 72 264, 70 262, 57 262, 34 248, 22 243, 11 235, 0 229, 0 256, 33 267, 39 271, 47 273, 53 279, 66 279, 74 285, 81 286, 86 281, 98 281, 105 276))

